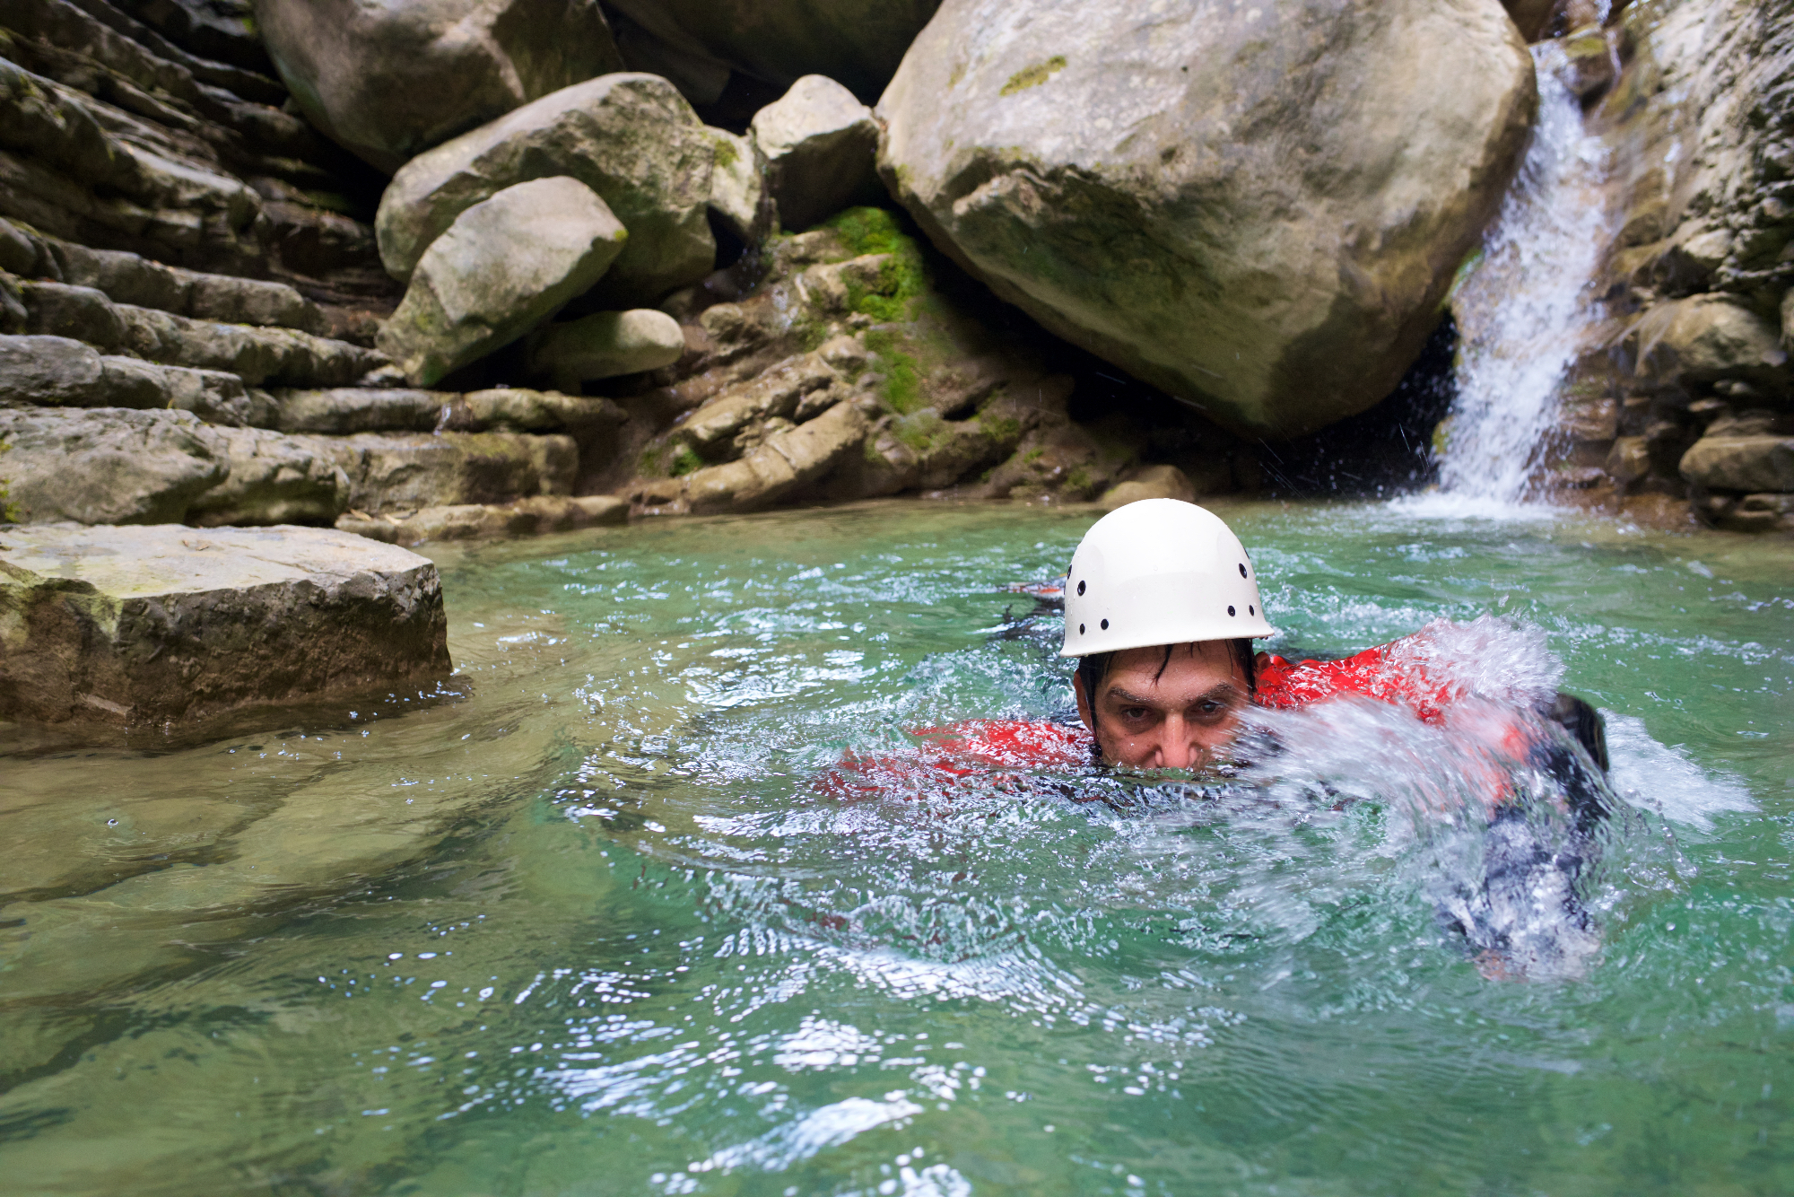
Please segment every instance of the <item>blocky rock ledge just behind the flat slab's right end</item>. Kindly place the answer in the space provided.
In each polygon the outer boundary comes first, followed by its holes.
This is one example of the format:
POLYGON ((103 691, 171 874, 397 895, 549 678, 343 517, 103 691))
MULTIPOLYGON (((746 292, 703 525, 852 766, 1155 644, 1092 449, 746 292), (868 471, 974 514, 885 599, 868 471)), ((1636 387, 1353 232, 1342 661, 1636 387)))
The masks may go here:
POLYGON ((348 506, 370 515, 572 494, 570 436, 440 432, 316 438, 348 474, 348 506))

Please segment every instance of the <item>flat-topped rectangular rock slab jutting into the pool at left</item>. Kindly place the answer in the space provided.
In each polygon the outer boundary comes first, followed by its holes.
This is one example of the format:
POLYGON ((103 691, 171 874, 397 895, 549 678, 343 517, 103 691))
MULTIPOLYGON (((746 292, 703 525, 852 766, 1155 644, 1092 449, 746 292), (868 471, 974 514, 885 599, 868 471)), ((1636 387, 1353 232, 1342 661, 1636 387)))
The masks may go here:
POLYGON ((0 720, 169 725, 448 675, 425 558, 319 528, 0 529, 0 720))

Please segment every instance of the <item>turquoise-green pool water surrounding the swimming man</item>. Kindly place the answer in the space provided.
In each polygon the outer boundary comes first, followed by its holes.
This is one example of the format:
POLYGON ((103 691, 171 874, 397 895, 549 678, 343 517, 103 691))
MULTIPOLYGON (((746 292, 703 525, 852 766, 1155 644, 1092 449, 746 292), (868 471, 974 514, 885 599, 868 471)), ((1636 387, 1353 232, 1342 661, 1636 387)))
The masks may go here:
POLYGON ((457 695, 0 757, 0 1192, 1794 1190, 1794 547, 1218 510, 1274 648, 1543 628, 1627 799, 1582 969, 1489 980, 1374 795, 823 797, 1066 707, 1005 587, 1091 510, 445 549, 457 695))

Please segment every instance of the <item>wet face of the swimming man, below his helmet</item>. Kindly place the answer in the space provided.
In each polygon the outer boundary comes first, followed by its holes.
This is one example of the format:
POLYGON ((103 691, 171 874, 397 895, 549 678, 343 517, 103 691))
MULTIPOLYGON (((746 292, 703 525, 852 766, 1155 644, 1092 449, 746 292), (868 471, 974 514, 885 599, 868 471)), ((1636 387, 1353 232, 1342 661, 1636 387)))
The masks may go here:
POLYGON ((1128 648, 1109 662, 1096 695, 1075 678, 1078 714, 1103 759, 1134 768, 1202 768, 1232 743, 1249 702, 1227 641, 1128 648))

